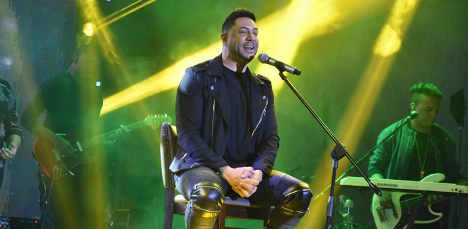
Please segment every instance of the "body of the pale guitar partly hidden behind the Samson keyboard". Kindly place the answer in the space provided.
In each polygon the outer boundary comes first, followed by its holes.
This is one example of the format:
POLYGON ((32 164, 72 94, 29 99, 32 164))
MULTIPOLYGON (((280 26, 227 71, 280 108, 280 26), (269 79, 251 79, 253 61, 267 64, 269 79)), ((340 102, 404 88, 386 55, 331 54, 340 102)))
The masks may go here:
MULTIPOLYGON (((445 179, 445 175, 440 173, 431 174, 421 181, 424 182, 440 182, 445 179)), ((374 223, 377 229, 406 229, 407 221, 411 216, 411 209, 406 205, 402 207, 403 201, 415 198, 416 201, 412 201, 412 206, 415 206, 419 201, 421 194, 419 193, 403 193, 403 192, 391 192, 392 202, 394 208, 386 209, 380 205, 380 198, 377 195, 372 197, 372 216, 374 217, 374 223)), ((420 211, 425 211, 424 205, 420 211)), ((429 212, 434 215, 434 219, 427 221, 415 221, 414 224, 430 224, 434 223, 442 218, 442 213, 434 212, 431 205, 428 206, 429 212)))

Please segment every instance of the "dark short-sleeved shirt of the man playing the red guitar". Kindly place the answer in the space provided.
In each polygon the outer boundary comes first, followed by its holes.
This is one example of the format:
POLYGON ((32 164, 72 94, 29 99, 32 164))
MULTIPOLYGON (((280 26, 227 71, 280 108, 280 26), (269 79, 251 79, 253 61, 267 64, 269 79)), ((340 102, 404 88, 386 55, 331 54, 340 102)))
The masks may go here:
POLYGON ((102 96, 95 87, 81 86, 69 72, 48 79, 23 112, 22 124, 32 130, 37 118, 47 110, 44 126, 55 133, 95 135, 102 96))

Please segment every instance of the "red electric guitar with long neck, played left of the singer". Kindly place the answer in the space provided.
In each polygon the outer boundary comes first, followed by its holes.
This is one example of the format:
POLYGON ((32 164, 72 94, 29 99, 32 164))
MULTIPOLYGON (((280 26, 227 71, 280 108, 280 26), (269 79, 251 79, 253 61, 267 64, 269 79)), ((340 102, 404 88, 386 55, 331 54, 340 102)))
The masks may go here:
POLYGON ((78 139, 73 136, 61 135, 72 145, 73 153, 60 152, 55 146, 43 139, 38 138, 34 142, 33 152, 42 172, 52 179, 60 179, 68 174, 73 175, 73 168, 78 164, 85 164, 95 161, 96 155, 89 155, 87 149, 96 146, 104 141, 110 141, 121 135, 123 132, 134 131, 141 127, 159 127, 162 123, 170 123, 172 119, 167 115, 152 115, 144 120, 125 126, 125 131, 121 128, 102 133, 88 139, 78 139))

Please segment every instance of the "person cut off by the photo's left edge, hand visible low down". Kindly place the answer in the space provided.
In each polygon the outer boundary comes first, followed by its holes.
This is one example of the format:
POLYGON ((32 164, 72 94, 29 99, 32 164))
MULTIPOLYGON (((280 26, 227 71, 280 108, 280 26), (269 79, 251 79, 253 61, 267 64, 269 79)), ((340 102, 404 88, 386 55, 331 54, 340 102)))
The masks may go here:
POLYGON ((5 135, 2 136, 6 145, 0 149, 0 187, 3 179, 3 165, 12 159, 21 144, 22 131, 16 111, 16 99, 6 80, 0 78, 0 121, 3 124, 5 135))

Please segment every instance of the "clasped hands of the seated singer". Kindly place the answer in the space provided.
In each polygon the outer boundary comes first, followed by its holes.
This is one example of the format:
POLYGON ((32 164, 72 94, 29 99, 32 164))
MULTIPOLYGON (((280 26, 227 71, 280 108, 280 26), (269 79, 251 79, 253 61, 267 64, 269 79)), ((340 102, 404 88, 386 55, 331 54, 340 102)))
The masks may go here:
POLYGON ((262 171, 252 167, 232 168, 225 166, 220 168, 221 175, 241 197, 249 197, 257 191, 257 186, 262 181, 262 171))

